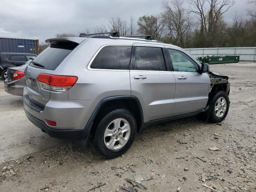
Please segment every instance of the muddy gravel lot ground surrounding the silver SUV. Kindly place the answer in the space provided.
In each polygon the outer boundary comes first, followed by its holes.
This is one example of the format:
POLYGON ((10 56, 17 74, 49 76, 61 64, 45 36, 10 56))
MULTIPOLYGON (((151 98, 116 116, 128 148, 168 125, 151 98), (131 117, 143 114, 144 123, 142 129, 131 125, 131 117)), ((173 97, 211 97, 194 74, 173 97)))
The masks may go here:
POLYGON ((205 184, 215 192, 255 192, 256 64, 210 68, 230 77, 230 111, 223 122, 192 117, 150 126, 113 160, 42 133, 26 119, 21 97, 4 93, 1 82, 1 191, 210 192, 205 184))

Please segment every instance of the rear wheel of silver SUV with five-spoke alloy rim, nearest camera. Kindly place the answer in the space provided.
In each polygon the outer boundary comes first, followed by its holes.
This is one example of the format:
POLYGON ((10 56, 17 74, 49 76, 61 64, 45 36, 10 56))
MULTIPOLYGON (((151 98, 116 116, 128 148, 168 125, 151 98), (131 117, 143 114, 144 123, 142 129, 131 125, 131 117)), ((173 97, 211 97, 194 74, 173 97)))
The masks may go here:
POLYGON ((112 110, 96 124, 90 144, 105 158, 121 156, 134 142, 136 120, 126 109, 112 110))

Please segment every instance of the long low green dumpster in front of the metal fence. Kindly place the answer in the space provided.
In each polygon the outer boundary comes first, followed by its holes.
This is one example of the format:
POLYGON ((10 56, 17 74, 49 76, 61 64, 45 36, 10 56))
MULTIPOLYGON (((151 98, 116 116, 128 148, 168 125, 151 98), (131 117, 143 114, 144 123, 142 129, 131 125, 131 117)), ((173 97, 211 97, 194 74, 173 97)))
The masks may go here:
POLYGON ((198 60, 203 63, 217 64, 217 63, 237 63, 239 56, 224 55, 224 56, 206 56, 198 57, 198 60))

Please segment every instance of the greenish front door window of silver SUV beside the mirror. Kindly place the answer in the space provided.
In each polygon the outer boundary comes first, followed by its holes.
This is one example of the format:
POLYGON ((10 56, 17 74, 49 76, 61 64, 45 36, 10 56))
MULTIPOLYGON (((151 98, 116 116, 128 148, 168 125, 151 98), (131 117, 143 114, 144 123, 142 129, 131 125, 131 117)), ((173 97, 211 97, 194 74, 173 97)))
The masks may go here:
POLYGON ((172 60, 172 66, 174 71, 198 72, 198 64, 196 64, 196 62, 194 62, 185 53, 174 49, 168 49, 168 52, 172 60))

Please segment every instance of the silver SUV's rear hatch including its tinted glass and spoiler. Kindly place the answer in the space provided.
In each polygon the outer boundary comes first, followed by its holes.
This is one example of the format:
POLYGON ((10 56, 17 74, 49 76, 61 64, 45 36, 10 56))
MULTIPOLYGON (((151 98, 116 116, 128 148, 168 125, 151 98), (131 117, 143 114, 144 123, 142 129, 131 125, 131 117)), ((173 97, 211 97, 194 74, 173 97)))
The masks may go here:
POLYGON ((37 81, 39 74, 53 74, 59 64, 78 46, 84 39, 56 38, 46 40, 50 46, 40 53, 25 70, 26 88, 29 99, 34 104, 44 108, 50 100, 50 90, 42 88, 42 84, 37 81), (79 42, 80 40, 80 42, 79 42))

